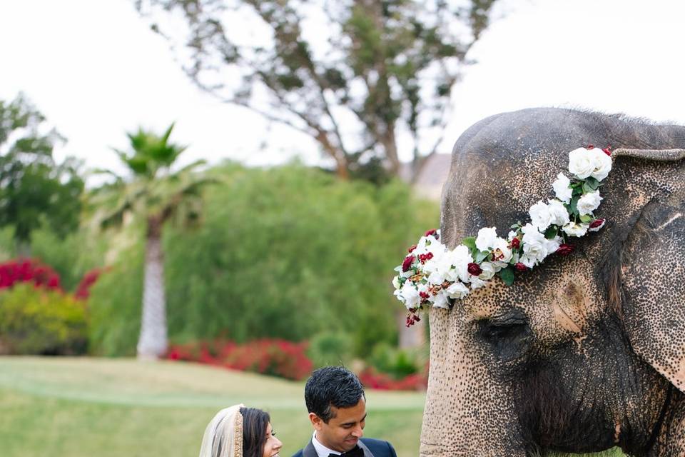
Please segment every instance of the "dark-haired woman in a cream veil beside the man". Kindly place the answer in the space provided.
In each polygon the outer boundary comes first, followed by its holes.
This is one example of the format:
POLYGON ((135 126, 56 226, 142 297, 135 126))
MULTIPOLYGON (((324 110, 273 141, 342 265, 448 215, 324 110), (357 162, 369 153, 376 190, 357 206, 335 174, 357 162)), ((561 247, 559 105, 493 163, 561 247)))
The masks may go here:
POLYGON ((230 406, 205 429, 200 457, 278 457, 283 443, 275 435, 265 411, 230 406))

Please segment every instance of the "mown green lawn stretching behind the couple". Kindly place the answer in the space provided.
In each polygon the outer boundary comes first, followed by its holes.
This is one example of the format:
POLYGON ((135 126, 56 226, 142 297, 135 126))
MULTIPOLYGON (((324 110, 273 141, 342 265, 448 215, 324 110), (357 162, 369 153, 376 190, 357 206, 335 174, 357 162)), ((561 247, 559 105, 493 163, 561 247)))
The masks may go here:
MULTIPOLYGON (((196 456, 213 414, 242 402, 270 411, 287 457, 311 436, 303 388, 192 363, 0 357, 0 456, 196 456)), ((367 391, 365 434, 417 456, 424 398, 367 391)))

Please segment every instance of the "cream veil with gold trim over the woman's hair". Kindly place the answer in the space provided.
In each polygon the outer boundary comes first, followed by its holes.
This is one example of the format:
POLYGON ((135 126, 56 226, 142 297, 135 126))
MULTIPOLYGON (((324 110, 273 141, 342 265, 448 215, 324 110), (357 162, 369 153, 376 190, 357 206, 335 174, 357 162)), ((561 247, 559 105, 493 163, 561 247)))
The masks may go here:
POLYGON ((243 457, 243 405, 224 408, 210 421, 202 437, 200 457, 243 457))

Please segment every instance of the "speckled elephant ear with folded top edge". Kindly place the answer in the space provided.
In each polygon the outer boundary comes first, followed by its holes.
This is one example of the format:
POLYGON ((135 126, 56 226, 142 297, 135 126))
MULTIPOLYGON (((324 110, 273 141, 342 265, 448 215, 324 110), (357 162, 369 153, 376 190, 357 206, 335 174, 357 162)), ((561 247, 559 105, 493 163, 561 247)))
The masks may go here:
POLYGON ((626 333, 634 351, 685 392, 685 149, 612 155, 628 176, 621 199, 631 207, 617 262, 626 333))

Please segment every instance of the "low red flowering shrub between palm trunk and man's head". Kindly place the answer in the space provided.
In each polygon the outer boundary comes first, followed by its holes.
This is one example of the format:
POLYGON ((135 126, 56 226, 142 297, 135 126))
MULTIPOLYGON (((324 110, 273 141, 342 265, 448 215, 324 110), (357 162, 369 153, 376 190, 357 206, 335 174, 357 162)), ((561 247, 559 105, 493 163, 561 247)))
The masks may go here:
POLYGON ((245 344, 216 340, 171 346, 167 358, 299 380, 309 376, 313 368, 306 350, 307 343, 277 339, 245 344))

